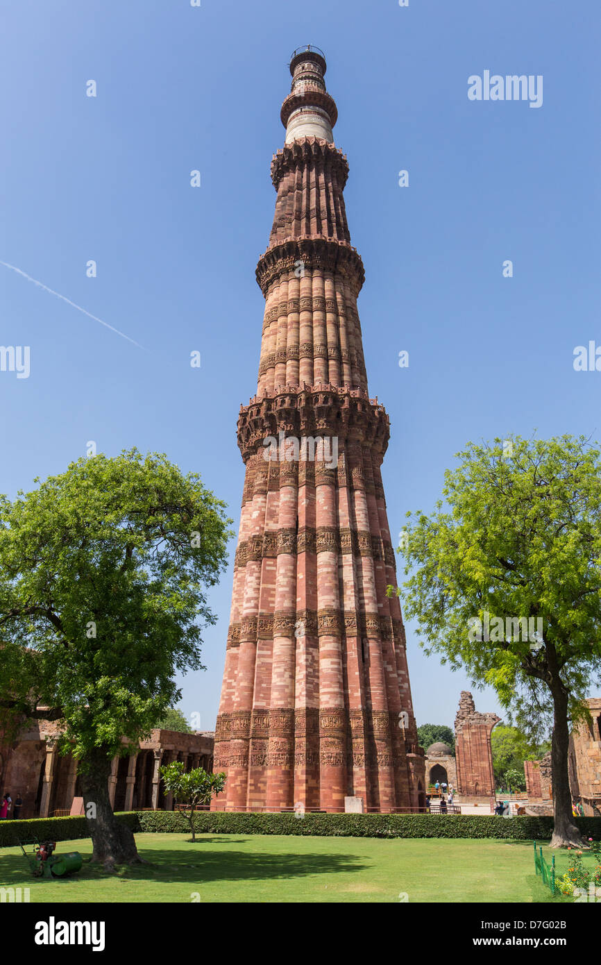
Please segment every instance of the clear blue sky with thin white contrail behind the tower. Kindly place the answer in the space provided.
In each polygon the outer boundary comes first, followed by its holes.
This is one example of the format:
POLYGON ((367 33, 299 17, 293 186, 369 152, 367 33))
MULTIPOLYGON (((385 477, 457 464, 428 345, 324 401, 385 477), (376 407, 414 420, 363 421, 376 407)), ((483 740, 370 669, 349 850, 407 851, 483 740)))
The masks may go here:
MULTIPOLYGON (((0 261, 144 348, 0 265, 0 342, 31 347, 29 378, 0 372, 0 491, 63 471, 89 440, 107 455, 135 445, 200 472, 237 526, 269 164, 305 43, 325 51, 350 165, 369 390, 392 426, 391 532, 431 509, 468 440, 601 435, 601 372, 572 365, 576 345, 601 345, 596 0, 18 0, 3 21, 0 261), (485 69, 541 74, 542 106, 470 101, 485 69)), ((210 593, 207 671, 182 679, 205 730, 231 590, 230 569, 210 593)), ((469 681, 407 630, 418 723, 451 725, 469 681)), ((475 698, 499 712, 494 692, 475 698)))

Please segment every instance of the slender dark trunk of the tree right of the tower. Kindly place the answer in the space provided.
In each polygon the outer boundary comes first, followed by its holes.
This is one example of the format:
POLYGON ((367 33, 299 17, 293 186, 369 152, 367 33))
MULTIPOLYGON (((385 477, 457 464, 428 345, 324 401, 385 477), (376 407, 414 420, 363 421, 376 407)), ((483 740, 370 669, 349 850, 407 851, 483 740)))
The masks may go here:
POLYGON ((551 741, 551 775, 553 783, 554 828, 551 847, 583 847, 582 835, 572 822, 572 794, 567 772, 569 730, 567 725, 567 691, 561 681, 554 680, 554 726, 551 741))

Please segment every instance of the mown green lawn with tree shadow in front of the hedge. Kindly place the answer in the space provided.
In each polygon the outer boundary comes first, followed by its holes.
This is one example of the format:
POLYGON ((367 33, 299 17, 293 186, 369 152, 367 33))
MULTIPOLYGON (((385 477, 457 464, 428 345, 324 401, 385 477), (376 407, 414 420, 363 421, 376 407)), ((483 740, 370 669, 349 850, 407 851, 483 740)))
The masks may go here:
MULTIPOLYGON (((91 841, 60 841, 84 867, 66 880, 29 875, 18 848, 0 850, 0 883, 29 887, 32 902, 394 901, 546 902, 526 841, 136 835, 149 864, 110 875, 86 863, 91 841), (195 897, 196 893, 196 897, 195 897)), ((549 859, 548 848, 543 854, 549 859)), ((567 868, 567 853, 556 858, 567 868)), ((555 900, 571 900, 557 898, 555 900)))

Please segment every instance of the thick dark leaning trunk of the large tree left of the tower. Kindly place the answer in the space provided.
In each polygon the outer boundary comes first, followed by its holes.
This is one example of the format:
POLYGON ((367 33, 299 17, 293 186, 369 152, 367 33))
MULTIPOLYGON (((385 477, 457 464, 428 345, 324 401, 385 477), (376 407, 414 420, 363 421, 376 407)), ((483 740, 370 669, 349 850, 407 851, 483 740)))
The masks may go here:
POLYGON ((105 748, 95 748, 80 760, 84 812, 94 845, 92 861, 112 869, 139 863, 133 832, 117 820, 108 793, 111 758, 105 748), (94 806, 94 807, 93 807, 94 806))

